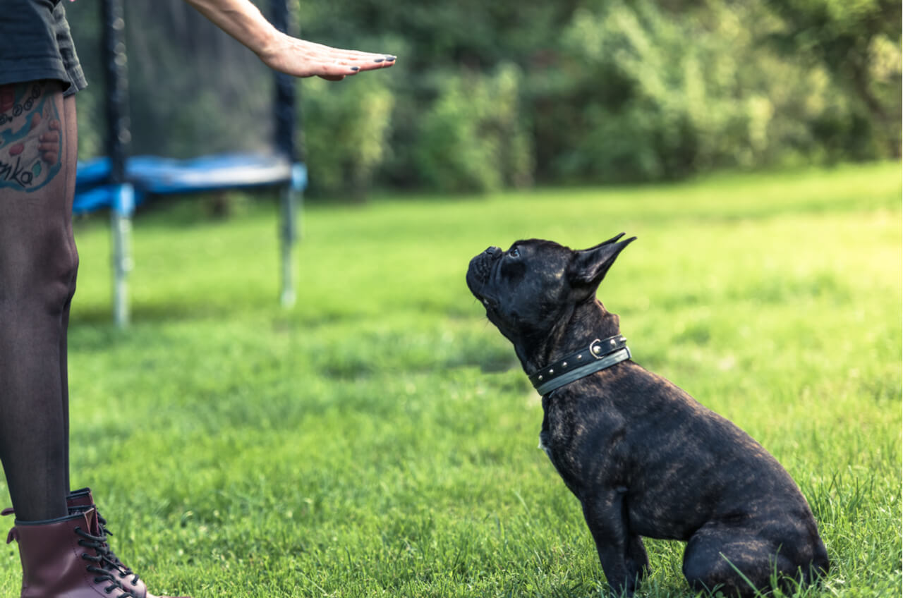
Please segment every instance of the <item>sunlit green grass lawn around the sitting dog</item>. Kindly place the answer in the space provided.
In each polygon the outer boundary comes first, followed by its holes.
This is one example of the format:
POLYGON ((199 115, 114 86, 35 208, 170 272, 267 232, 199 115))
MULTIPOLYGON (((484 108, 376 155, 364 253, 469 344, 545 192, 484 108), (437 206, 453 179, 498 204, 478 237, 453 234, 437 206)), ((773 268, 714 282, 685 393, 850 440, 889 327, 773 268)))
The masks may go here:
MULTIPOLYGON (((796 479, 833 563, 800 595, 896 597, 900 200, 900 164, 879 164, 314 204, 291 311, 275 204, 212 220, 184 201, 135 220, 127 332, 107 222, 79 221, 73 486, 154 593, 599 596, 579 503, 536 449, 539 397, 464 273, 489 245, 627 231, 600 299, 634 360, 796 479)), ((690 595, 683 545, 647 548, 638 595, 690 595)), ((17 596, 15 545, 0 554, 17 596)))

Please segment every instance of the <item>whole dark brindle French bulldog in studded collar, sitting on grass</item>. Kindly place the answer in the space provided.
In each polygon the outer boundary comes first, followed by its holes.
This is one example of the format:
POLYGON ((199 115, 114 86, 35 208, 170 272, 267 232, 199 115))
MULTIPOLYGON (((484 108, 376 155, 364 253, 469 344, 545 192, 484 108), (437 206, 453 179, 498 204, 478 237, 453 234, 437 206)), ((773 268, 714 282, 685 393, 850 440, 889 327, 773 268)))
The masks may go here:
POLYGON ((646 573, 642 536, 687 542, 694 590, 745 597, 768 591, 775 574, 785 589, 814 581, 827 552, 780 463, 629 359, 618 316, 596 298, 635 240, 622 236, 582 251, 539 239, 490 247, 467 272, 543 395, 540 446, 582 504, 611 589, 631 595, 646 573))

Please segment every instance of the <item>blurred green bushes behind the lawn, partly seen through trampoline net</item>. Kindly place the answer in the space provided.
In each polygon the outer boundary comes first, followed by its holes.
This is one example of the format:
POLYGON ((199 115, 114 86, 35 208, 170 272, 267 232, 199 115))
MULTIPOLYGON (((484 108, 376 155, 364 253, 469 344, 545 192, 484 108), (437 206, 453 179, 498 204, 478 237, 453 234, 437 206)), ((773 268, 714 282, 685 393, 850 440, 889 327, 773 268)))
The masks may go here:
MULTIPOLYGON (((165 139, 135 145, 182 155, 265 144, 271 89, 249 70, 253 55, 186 26, 198 17, 178 0, 126 4, 161 38, 144 44, 160 51, 130 54, 176 62, 131 81, 133 105, 163 115, 141 118, 135 136, 165 139), (179 63, 172 38, 185 36, 183 59, 215 45, 219 64, 179 63), (226 91, 212 89, 219 79, 226 91)), ((94 43, 96 11, 68 8, 94 43)), ((900 154, 898 2, 312 0, 297 19, 307 39, 399 56, 390 70, 300 84, 314 194, 642 182, 900 154)), ((100 93, 80 99, 83 154, 101 150, 100 93)))

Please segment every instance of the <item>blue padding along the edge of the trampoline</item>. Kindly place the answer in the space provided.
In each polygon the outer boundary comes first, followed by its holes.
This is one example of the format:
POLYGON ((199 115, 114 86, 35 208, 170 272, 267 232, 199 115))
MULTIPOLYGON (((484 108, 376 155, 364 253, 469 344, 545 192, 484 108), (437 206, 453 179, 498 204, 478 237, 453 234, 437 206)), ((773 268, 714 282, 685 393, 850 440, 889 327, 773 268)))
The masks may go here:
MULTIPOLYGON (((73 210, 84 212, 115 204, 114 188, 108 182, 107 157, 79 162, 73 210)), ((126 162, 126 182, 135 188, 135 203, 148 193, 214 191, 290 183, 303 191, 307 170, 280 155, 218 154, 191 160, 136 155, 126 162)))

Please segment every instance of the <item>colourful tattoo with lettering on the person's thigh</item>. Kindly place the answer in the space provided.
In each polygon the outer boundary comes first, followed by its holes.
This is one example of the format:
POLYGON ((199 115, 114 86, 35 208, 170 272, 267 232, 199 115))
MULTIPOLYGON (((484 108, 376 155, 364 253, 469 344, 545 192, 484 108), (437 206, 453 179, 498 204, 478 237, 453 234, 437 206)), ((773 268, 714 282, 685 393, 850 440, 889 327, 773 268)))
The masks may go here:
POLYGON ((0 85, 0 189, 33 192, 61 170, 59 108, 42 82, 0 85))

